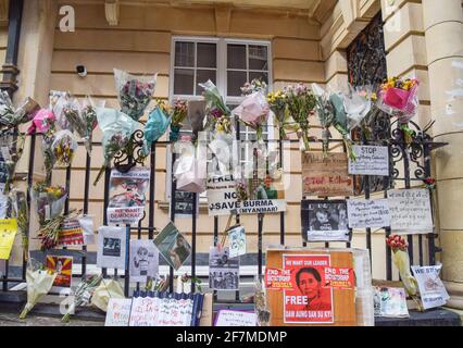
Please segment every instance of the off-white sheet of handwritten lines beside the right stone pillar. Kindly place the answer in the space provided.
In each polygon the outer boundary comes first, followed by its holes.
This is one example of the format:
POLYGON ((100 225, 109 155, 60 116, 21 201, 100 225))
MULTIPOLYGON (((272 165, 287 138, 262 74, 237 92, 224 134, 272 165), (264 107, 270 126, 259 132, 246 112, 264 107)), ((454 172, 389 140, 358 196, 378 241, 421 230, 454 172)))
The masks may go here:
POLYGON ((389 190, 390 227, 397 234, 433 232, 429 191, 427 189, 389 190))

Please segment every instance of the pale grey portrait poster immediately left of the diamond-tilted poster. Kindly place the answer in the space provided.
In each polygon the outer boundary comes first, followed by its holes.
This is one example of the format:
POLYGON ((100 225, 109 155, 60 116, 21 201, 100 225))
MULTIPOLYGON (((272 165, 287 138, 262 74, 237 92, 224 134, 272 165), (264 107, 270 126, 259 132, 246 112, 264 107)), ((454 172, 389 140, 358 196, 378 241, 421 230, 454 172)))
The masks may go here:
POLYGON ((159 273, 159 251, 152 240, 132 239, 129 258, 130 282, 146 283, 159 273))

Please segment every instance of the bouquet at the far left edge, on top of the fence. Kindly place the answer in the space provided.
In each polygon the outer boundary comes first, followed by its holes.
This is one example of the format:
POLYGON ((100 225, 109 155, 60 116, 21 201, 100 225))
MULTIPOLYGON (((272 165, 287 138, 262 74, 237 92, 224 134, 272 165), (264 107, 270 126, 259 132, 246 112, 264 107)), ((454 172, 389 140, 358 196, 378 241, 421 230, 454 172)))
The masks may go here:
POLYGON ((27 98, 16 109, 11 101, 10 95, 4 90, 0 91, 0 128, 11 129, 20 124, 27 123, 39 109, 38 103, 30 98, 27 98))

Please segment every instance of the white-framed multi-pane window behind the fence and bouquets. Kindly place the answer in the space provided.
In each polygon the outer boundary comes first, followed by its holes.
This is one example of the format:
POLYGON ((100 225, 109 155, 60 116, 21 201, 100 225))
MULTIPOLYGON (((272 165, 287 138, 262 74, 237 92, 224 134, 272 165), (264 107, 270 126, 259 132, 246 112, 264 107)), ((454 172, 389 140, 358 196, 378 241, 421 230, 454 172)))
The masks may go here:
MULTIPOLYGON (((272 51, 271 41, 217 38, 201 36, 173 36, 171 49, 170 101, 201 100, 202 88, 198 86, 211 79, 218 88, 230 109, 241 101, 241 90, 247 82, 262 78, 272 90, 272 51)), ((273 121, 263 130, 264 139, 274 138, 273 121)), ((188 133, 186 124, 183 132, 188 133)), ((240 124, 241 140, 255 141, 255 132, 240 124)), ((252 161, 252 151, 245 147, 240 151, 240 161, 252 161)), ((167 151, 167 199, 171 197, 171 156, 167 151)))

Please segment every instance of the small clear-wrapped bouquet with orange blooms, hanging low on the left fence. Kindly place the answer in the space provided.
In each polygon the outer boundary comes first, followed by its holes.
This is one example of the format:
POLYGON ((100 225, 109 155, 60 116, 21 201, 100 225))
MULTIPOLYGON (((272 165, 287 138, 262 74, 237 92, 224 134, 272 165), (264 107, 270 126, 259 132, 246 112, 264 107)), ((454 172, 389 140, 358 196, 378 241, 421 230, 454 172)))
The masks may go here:
POLYGON ((45 182, 36 183, 30 190, 30 198, 36 207, 40 226, 61 214, 67 192, 64 187, 49 186, 45 182))

